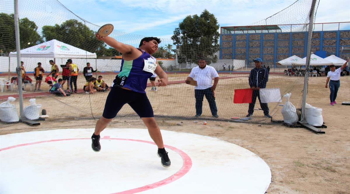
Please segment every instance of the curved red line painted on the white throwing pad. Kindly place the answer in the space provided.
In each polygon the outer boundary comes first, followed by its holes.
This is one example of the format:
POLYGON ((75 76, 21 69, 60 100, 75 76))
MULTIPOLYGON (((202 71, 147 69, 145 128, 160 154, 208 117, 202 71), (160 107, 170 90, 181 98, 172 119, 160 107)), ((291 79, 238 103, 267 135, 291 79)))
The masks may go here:
MULTIPOLYGON (((26 145, 34 145, 34 144, 40 144, 40 143, 58 142, 58 141, 66 141, 66 140, 77 140, 77 139, 90 139, 90 138, 51 139, 51 140, 46 140, 46 141, 39 141, 39 142, 32 142, 32 143, 13 145, 13 146, 9 146, 7 148, 1 148, 0 151, 9 150, 9 149, 12 149, 12 148, 18 148, 18 147, 26 146, 26 145)), ((140 139, 108 138, 108 137, 104 137, 104 138, 101 138, 101 139, 134 141, 134 142, 143 142, 143 143, 149 143, 149 144, 154 144, 155 145, 154 142, 149 142, 149 141, 140 140, 140 139)), ((142 187, 138 187, 138 188, 122 191, 122 192, 113 193, 113 194, 132 194, 132 193, 138 193, 138 192, 146 191, 146 190, 149 190, 149 189, 157 188, 157 187, 169 184, 170 182, 174 182, 175 180, 183 177, 183 175, 188 173, 188 171, 192 167, 192 160, 191 160, 191 158, 185 152, 183 152, 182 150, 177 149, 177 148, 175 148, 173 146, 164 145, 164 147, 175 151, 177 154, 179 154, 181 156, 181 158, 183 160, 183 165, 182 165, 182 167, 180 168, 179 171, 177 171, 175 174, 173 174, 170 177, 168 177, 166 179, 163 179, 161 181, 154 182, 152 184, 149 184, 149 185, 146 185, 146 186, 142 186, 142 187)))

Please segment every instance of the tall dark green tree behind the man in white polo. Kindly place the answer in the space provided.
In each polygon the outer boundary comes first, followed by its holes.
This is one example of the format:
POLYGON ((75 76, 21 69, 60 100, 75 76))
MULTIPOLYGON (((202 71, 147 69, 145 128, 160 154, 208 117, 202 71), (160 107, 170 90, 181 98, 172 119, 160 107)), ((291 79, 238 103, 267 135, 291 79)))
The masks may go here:
POLYGON ((172 40, 177 45, 179 63, 197 63, 205 58, 208 63, 216 62, 219 51, 219 24, 214 14, 204 9, 202 14, 189 15, 175 28, 172 40))

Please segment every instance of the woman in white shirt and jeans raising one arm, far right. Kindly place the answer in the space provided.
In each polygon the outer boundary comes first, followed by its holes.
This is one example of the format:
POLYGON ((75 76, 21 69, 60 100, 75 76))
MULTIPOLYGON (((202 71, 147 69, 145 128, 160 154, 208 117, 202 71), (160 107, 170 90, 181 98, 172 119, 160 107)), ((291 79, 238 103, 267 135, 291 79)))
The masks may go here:
POLYGON ((338 93, 338 89, 340 87, 340 73, 341 71, 344 69, 344 67, 346 67, 346 64, 349 62, 349 59, 346 60, 346 62, 344 63, 343 66, 341 66, 338 69, 335 69, 334 65, 330 65, 330 71, 327 73, 327 80, 326 80, 326 85, 325 88, 327 88, 328 85, 328 81, 329 81, 329 90, 330 90, 330 95, 329 95, 329 99, 330 99, 330 104, 329 105, 336 105, 337 102, 335 101, 335 99, 337 98, 337 93, 338 93))

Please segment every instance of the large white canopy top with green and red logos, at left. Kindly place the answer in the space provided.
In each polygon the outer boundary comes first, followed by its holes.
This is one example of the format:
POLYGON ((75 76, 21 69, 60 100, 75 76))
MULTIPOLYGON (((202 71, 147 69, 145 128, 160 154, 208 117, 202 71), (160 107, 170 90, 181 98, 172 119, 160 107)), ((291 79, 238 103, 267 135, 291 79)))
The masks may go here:
MULTIPOLYGON (((10 52, 9 57, 17 57, 17 52, 10 52)), ((97 58, 96 53, 79 49, 56 39, 21 50, 21 57, 97 58)))

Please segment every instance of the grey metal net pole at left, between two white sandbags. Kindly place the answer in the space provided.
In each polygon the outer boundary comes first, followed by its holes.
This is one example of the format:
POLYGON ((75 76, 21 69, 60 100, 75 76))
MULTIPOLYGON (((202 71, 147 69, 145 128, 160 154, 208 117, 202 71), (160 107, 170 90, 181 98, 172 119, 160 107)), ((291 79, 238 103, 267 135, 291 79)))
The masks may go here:
POLYGON ((21 70, 21 45, 20 45, 20 28, 18 19, 18 0, 14 0, 14 19, 15 19, 15 35, 16 35, 16 50, 17 50, 17 76, 18 76, 18 94, 20 101, 20 118, 23 115, 23 93, 22 93, 22 70, 21 70))

